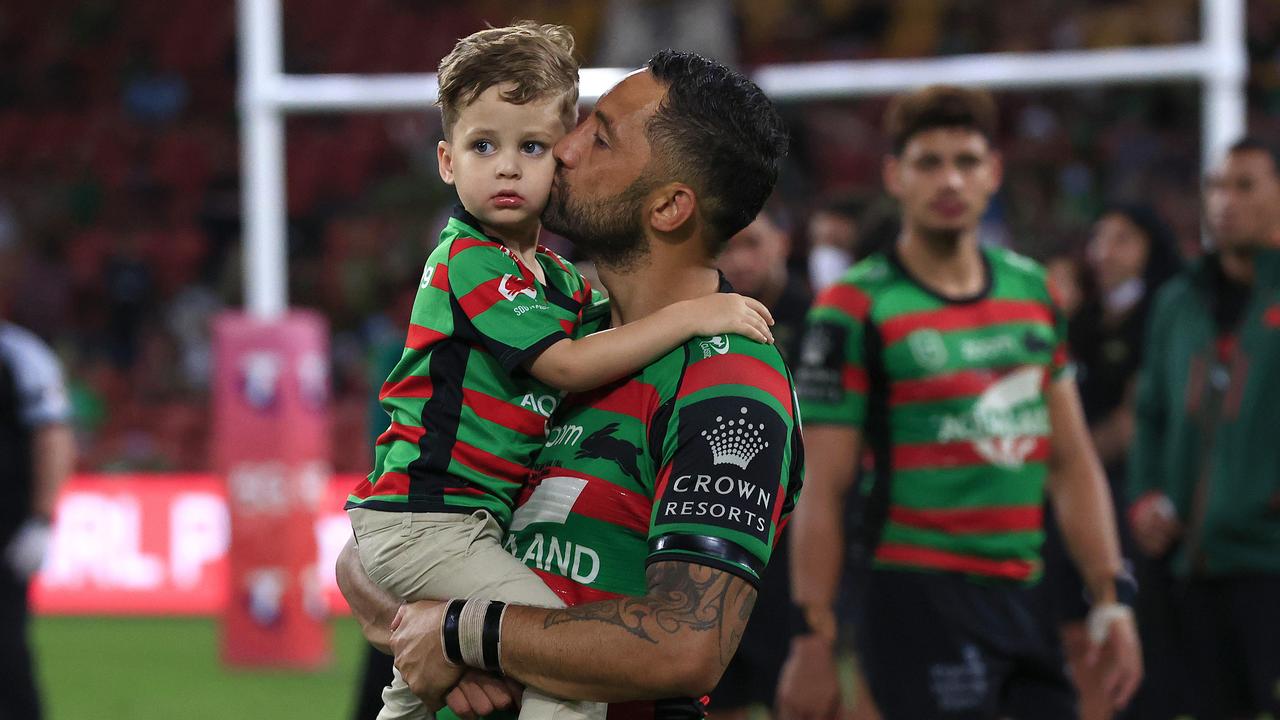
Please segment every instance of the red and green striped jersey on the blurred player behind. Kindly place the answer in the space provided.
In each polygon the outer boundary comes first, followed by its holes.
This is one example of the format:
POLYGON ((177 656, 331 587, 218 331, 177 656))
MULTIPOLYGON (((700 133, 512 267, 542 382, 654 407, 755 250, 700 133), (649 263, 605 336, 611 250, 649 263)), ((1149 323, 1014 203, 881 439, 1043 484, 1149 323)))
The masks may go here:
POLYGON ((1066 325, 1039 265, 982 252, 988 287, 961 301, 896 254, 855 265, 809 313, 797 389, 810 425, 863 430, 878 566, 1033 582, 1066 325))

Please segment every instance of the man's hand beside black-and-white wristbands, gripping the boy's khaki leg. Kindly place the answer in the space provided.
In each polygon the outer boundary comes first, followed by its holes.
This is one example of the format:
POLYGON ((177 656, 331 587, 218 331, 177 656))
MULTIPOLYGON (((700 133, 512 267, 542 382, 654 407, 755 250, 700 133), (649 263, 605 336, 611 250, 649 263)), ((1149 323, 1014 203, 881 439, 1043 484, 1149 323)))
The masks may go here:
POLYGON ((458 684, 465 667, 451 665, 440 647, 440 623, 447 603, 422 600, 402 605, 392 621, 392 652, 408 688, 435 712, 458 684))

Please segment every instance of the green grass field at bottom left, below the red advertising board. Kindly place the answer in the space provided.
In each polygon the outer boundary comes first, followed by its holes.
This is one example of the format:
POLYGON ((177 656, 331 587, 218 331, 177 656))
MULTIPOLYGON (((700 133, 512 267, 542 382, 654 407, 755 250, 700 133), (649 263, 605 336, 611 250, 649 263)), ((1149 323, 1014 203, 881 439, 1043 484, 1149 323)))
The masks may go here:
POLYGON ((227 670, 211 619, 42 618, 32 642, 47 720, 346 720, 365 647, 348 619, 319 673, 227 670))

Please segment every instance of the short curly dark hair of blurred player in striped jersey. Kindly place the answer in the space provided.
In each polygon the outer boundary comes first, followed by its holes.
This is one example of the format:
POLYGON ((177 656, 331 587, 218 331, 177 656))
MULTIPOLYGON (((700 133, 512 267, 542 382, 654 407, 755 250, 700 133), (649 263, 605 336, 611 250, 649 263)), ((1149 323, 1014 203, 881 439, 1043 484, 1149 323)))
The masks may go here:
POLYGON ((931 85, 893 97, 884 113, 884 132, 893 155, 922 132, 964 128, 980 133, 987 142, 996 137, 996 100, 986 90, 931 85))

